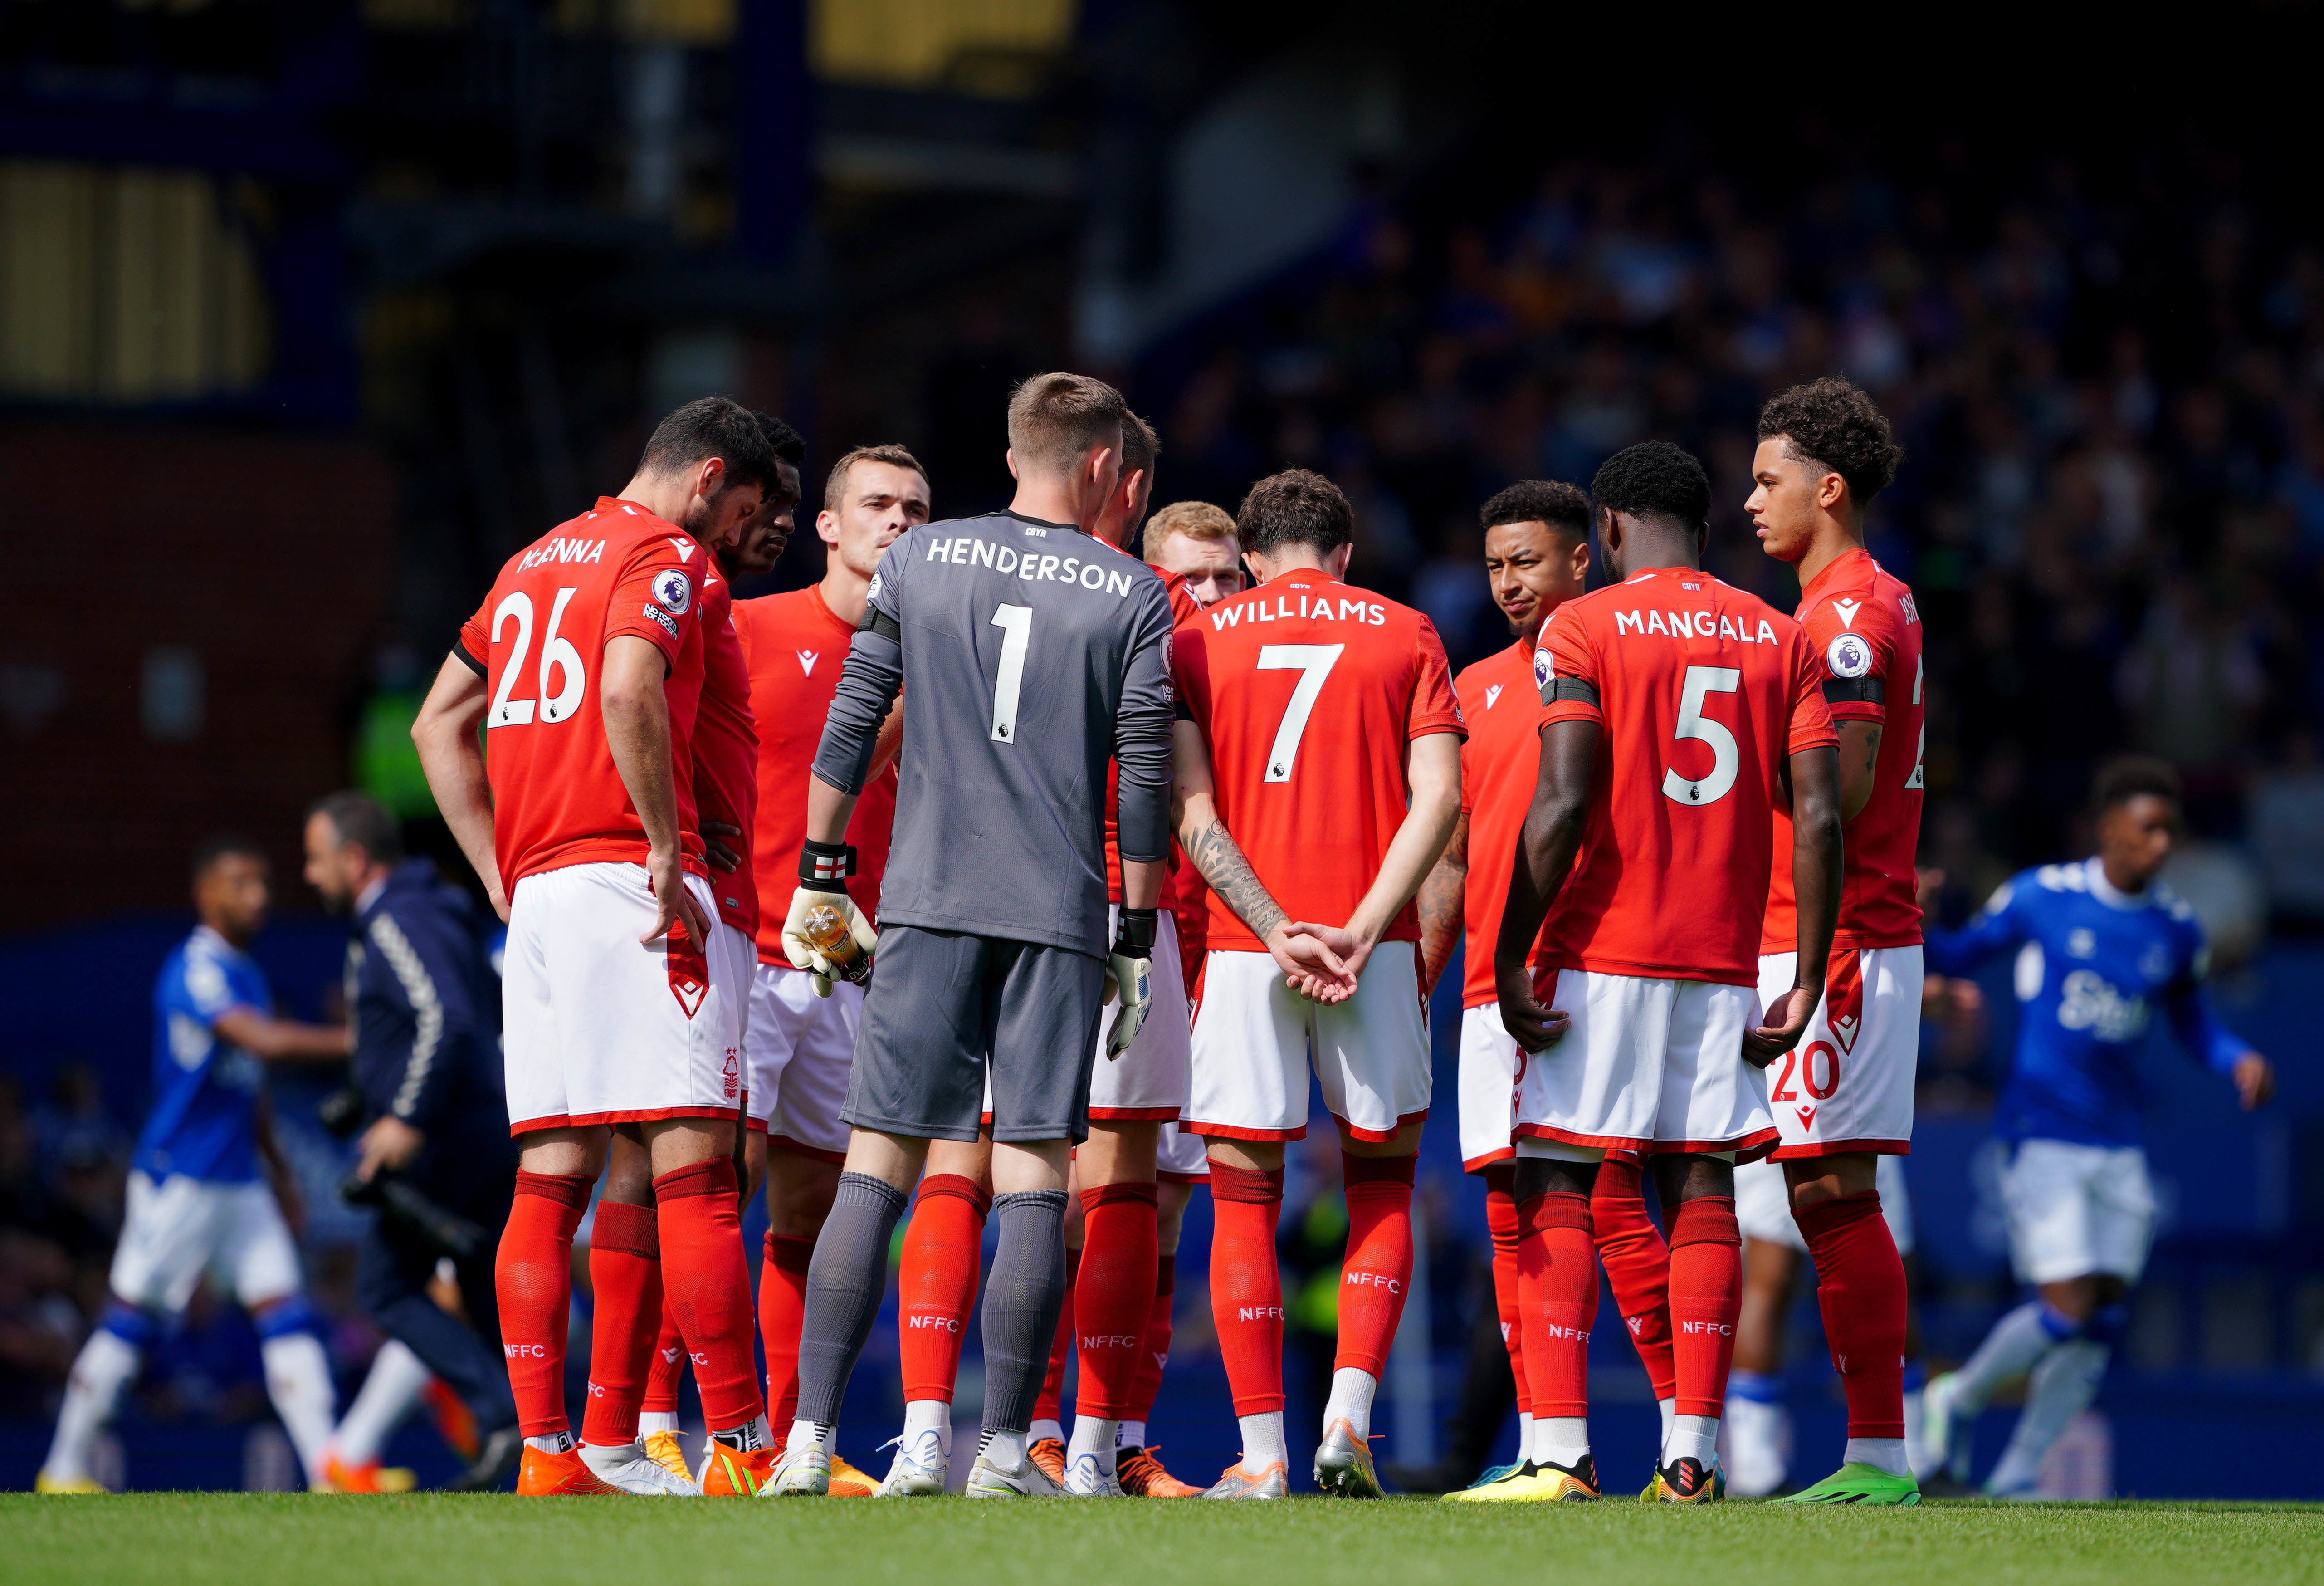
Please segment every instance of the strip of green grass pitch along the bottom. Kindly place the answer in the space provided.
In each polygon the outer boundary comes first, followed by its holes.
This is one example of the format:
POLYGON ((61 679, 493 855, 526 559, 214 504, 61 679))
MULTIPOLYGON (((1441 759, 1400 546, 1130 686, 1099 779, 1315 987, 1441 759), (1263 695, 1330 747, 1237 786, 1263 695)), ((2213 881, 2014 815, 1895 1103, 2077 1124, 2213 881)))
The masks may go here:
POLYGON ((2266 1586, 2324 1581, 2324 1507, 5 1495, 0 1581, 2266 1586))

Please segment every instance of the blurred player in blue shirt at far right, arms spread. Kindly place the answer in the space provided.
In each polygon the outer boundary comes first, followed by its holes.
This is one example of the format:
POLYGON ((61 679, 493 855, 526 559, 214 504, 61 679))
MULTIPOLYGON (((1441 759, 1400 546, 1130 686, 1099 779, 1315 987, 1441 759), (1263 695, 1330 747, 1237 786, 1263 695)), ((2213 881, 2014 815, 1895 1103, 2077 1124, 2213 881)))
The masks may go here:
POLYGON ((1961 930, 1927 930, 1929 970, 1968 974, 2017 956, 2017 1063, 1994 1121, 2015 1149, 2001 1188, 2017 1277, 2038 1298, 1994 1323, 1959 1372, 1929 1384, 1929 1453, 1968 1479, 1968 1430, 2003 1384, 2029 1377, 2010 1446, 1985 1481, 2029 1498, 2040 1458, 2099 1391, 2122 1333, 2124 1293, 2154 1235, 2138 1146, 2136 1053, 2159 1009, 2180 1046, 2233 1081, 2245 1109, 2275 1070, 2212 1014, 2210 949, 2194 912, 2157 874, 2180 823, 2166 763, 2126 756, 2099 772, 2099 851, 2008 879, 1961 930))

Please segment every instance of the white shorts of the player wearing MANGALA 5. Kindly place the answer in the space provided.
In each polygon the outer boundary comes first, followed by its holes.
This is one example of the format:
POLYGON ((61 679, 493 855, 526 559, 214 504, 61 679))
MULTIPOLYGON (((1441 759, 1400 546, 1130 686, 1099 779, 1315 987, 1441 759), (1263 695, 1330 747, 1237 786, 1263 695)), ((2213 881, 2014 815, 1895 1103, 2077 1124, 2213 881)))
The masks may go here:
POLYGON ((1573 1023, 1518 1081, 1518 1135, 1569 1146, 1766 1156, 1766 1074, 1743 1060, 1750 986, 1559 970, 1573 1023))

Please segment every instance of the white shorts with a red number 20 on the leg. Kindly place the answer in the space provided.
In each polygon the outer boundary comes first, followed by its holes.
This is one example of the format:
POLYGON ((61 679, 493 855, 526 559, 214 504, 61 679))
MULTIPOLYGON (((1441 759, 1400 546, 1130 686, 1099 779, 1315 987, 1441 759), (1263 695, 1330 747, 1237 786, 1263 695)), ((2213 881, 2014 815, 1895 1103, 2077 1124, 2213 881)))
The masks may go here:
MULTIPOLYGON (((1799 953, 1759 956, 1759 1007, 1792 988, 1799 953)), ((1799 1046, 1766 1065, 1783 1130, 1776 1158, 1913 1149, 1920 1070, 1920 944, 1834 946, 1824 1000, 1799 1046)))

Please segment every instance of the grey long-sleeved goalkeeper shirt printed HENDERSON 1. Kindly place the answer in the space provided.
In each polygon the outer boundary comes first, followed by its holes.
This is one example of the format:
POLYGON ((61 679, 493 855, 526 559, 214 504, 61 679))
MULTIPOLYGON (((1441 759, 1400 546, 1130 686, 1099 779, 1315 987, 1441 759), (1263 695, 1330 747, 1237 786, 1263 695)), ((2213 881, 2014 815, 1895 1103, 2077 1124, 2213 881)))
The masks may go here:
POLYGON ((1106 760, 1127 860, 1169 853, 1169 593, 1009 512, 927 523, 871 577, 816 777, 860 793, 902 688, 883 926, 1106 951, 1106 760))

